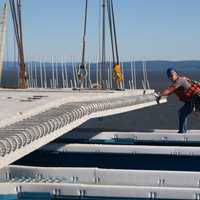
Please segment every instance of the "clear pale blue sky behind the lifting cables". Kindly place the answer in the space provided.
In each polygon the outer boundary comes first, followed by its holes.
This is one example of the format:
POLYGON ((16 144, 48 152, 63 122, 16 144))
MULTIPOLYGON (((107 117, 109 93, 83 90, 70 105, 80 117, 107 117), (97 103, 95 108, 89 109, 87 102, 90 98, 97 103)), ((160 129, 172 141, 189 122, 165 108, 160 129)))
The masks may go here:
MULTIPOLYGON (((84 4, 84 0, 22 0, 26 56, 80 60, 84 4)), ((122 60, 199 60, 199 0, 114 0, 114 4, 122 60)), ((86 54, 92 61, 98 54, 99 5, 99 0, 89 0, 86 54)), ((10 59, 11 25, 8 36, 10 59)))

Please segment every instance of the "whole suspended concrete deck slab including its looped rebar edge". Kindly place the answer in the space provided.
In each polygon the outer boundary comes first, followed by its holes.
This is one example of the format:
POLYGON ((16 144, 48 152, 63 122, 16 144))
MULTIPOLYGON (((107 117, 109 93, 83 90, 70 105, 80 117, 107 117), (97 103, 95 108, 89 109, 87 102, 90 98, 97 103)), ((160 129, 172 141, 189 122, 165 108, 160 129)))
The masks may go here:
MULTIPOLYGON (((166 102, 164 99, 162 102, 166 102)), ((153 91, 1 90, 0 168, 88 119, 156 105, 153 91)))

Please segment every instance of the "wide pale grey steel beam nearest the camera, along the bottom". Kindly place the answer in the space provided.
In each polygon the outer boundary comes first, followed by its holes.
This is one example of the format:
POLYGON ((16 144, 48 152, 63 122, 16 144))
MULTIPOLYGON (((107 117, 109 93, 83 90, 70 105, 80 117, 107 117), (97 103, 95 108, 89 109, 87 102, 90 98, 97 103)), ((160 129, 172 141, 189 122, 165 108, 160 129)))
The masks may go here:
POLYGON ((200 172, 44 168, 0 170, 0 193, 47 192, 57 196, 199 199, 200 172))

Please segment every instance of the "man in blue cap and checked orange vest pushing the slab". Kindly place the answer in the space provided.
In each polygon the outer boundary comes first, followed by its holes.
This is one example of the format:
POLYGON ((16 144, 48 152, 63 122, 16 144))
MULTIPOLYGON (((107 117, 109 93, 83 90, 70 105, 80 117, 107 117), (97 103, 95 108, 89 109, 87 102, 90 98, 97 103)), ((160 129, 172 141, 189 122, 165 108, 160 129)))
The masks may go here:
MULTIPOLYGON (((195 105, 200 104, 200 84, 187 77, 180 76, 175 69, 167 69, 167 77, 172 81, 172 85, 161 91, 158 99, 162 96, 169 96, 175 93, 179 100, 184 102, 179 110, 179 131, 187 132, 187 118, 193 112, 195 105)), ((199 108, 198 108, 199 109, 199 108)))

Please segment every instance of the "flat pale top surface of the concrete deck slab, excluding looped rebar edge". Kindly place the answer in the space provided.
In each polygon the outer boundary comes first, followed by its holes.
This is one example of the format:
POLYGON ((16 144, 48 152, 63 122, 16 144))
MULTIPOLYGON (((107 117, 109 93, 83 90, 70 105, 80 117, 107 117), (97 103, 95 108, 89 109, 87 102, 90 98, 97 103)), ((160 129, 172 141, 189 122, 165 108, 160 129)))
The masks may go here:
MULTIPOLYGON (((153 90, 147 91, 147 94, 153 90)), ((141 95, 143 90, 72 91, 71 89, 0 89, 0 127, 59 106, 63 103, 102 100, 119 96, 141 95)))

